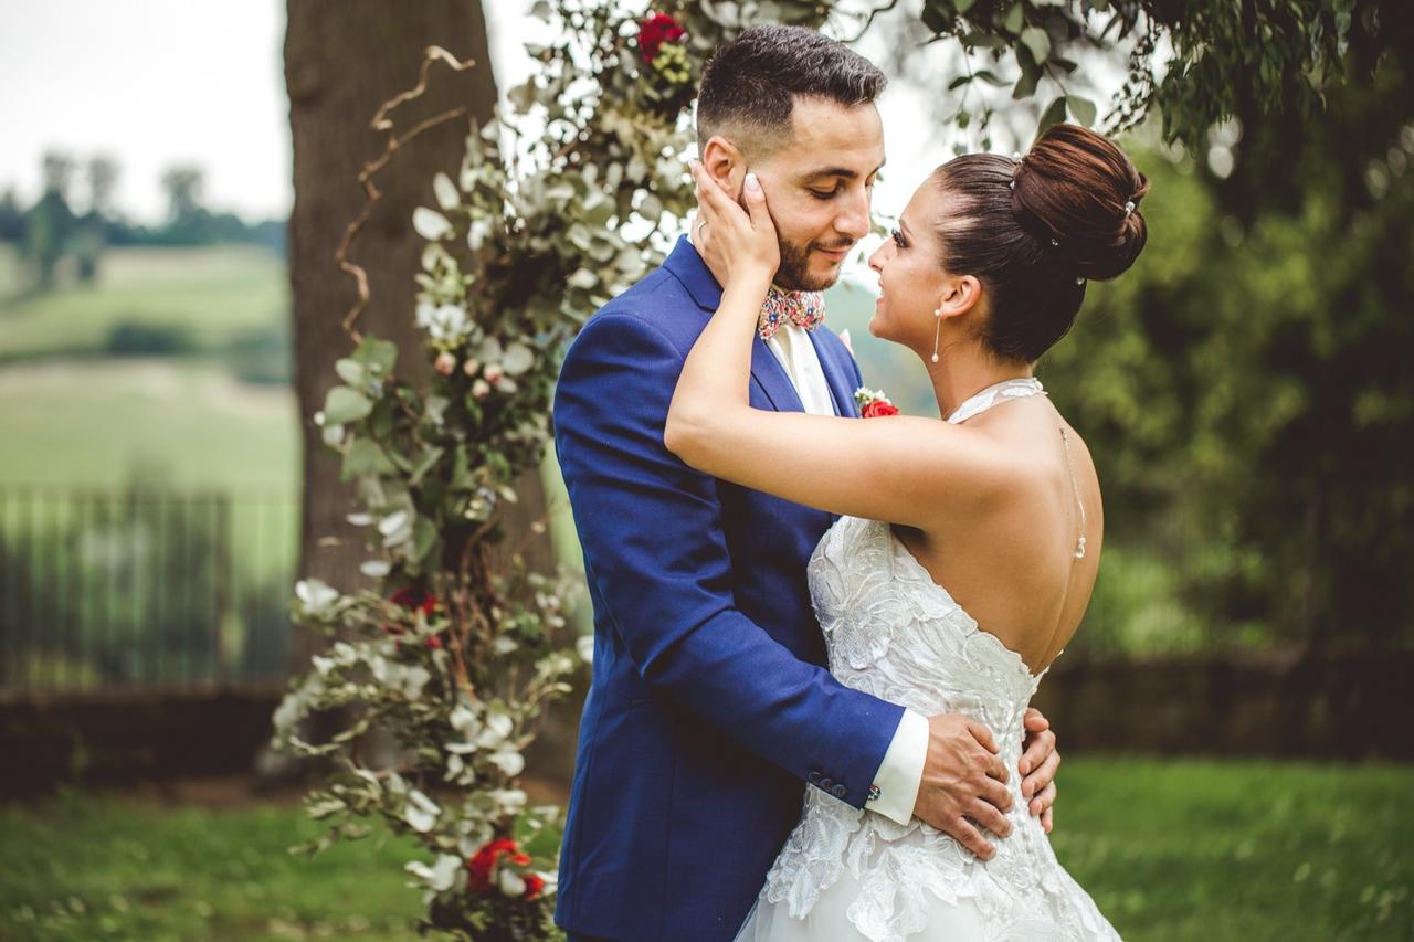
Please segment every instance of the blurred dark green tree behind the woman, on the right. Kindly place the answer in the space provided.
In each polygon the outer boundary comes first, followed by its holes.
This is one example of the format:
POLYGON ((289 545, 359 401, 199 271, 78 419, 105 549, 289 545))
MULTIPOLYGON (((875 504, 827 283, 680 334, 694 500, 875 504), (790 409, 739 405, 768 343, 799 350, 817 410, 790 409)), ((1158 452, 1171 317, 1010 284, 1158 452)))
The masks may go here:
POLYGON ((1315 115, 1247 98, 1206 151, 1135 154, 1148 249, 1039 366, 1106 485, 1099 611, 1150 584, 1179 645, 1414 641, 1404 54, 1315 115))

